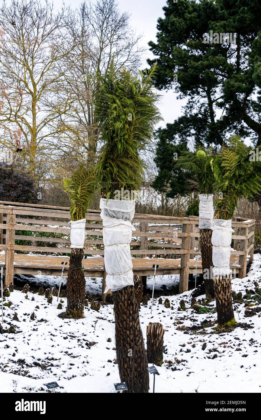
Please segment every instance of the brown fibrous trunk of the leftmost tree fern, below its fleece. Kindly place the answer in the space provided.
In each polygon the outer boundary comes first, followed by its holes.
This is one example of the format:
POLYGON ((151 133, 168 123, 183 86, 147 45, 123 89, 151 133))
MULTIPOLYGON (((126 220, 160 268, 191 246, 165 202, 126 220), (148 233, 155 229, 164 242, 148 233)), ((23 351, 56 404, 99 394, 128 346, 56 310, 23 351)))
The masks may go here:
POLYGON ((67 277, 66 313, 73 318, 84 317, 85 277, 82 268, 83 249, 73 248, 67 277))

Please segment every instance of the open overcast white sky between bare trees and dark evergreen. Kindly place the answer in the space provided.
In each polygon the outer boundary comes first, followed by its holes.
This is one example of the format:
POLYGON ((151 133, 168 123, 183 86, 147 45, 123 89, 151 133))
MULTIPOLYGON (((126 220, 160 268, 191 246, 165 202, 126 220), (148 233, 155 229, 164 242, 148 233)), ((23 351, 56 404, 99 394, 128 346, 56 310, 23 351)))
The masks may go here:
MULTIPOLYGON (((70 4, 72 7, 77 7, 82 0, 68 1, 65 4, 70 4)), ((93 0, 95 2, 95 0, 93 0)), ((55 7, 62 4, 61 0, 54 1, 55 7)), ((137 34, 143 34, 141 44, 147 48, 145 55, 144 67, 147 66, 146 58, 153 58, 154 55, 149 51, 148 42, 150 40, 156 41, 157 34, 157 19, 159 16, 164 16, 162 7, 166 4, 165 0, 118 0, 119 8, 122 11, 128 11, 131 14, 130 24, 136 29, 137 34)), ((164 126, 165 123, 171 123, 181 115, 181 106, 185 105, 185 100, 177 100, 177 95, 173 91, 160 92, 162 99, 158 104, 162 113, 162 121, 159 125, 164 126)))

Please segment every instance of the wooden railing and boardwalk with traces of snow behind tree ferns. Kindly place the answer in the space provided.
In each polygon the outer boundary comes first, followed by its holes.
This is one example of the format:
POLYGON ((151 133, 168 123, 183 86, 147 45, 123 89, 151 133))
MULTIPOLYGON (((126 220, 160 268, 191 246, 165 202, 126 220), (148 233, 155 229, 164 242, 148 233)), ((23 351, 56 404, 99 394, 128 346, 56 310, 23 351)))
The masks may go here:
MULTIPOLYGON (((86 276, 104 278, 102 219, 99 213, 99 210, 89 210, 86 214, 84 254, 91 257, 84 260, 84 271, 86 276), (93 249, 93 246, 100 249, 93 249)), ((5 255, 0 254, 0 265, 6 266, 7 285, 13 282, 14 273, 37 274, 39 270, 47 275, 60 273, 61 257, 46 254, 70 254, 69 220, 67 207, 0 201, 0 251, 5 250, 5 255), (37 232, 37 237, 23 234, 24 231, 37 232), (49 237, 48 232, 67 237, 49 237), (19 245, 16 243, 17 239, 52 242, 59 244, 59 247, 19 245), (17 254, 17 251, 24 253, 17 254)), ((146 276, 154 274, 152 265, 156 263, 159 265, 157 274, 180 274, 179 291, 182 293, 188 290, 189 274, 195 273, 196 269, 197 273, 202 273, 201 262, 194 259, 196 254, 201 254, 198 250, 198 217, 179 218, 136 213, 133 223, 136 227, 130 243, 131 255, 135 256, 133 271, 142 276, 145 282, 146 276), (180 258, 177 258, 179 255, 180 258)), ((243 278, 247 264, 253 260, 255 220, 235 218, 232 227, 235 235, 232 236, 234 251, 231 251, 230 267, 236 269, 239 277, 243 278)), ((68 270, 68 266, 66 269, 68 270)))

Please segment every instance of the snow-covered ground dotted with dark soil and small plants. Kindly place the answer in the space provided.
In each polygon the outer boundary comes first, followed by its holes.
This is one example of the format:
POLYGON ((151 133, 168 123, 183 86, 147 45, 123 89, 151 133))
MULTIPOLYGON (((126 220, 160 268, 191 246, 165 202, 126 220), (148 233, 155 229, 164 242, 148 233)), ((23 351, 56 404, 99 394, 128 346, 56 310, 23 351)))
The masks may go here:
MULTIPOLYGON (((57 280, 52 278, 54 283, 57 280)), ((177 281, 175 276, 159 276, 156 287, 177 281)), ((232 290, 244 295, 246 288, 255 289, 254 281, 261 287, 259 254, 254 256, 248 276, 232 281, 232 290)), ((100 291, 99 279, 88 279, 87 284, 94 294, 100 291)), ((149 322, 161 322, 166 330, 164 363, 157 367, 160 375, 156 376, 155 392, 261 392, 261 312, 246 317, 245 300, 237 303, 235 318, 240 326, 218 332, 214 329, 217 314, 197 313, 191 308, 190 295, 191 291, 167 296, 170 308, 159 304, 157 298, 152 315, 151 302, 141 304, 145 341, 149 322), (186 310, 178 310, 181 299, 186 310)), ((115 364, 112 305, 101 306, 96 312, 89 304, 84 319, 63 320, 57 317, 63 310, 57 309, 55 297, 48 304, 44 296, 29 291, 25 299, 24 293, 15 290, 5 303, 10 301, 10 307, 4 307, 3 328, 11 324, 16 333, 0 334, 0 392, 47 392, 44 383, 51 381, 60 385, 58 392, 116 392, 113 384, 120 378, 115 364), (33 311, 35 320, 30 319, 33 311), (18 321, 13 320, 15 312, 18 321)), ((214 302, 211 305, 209 310, 214 310, 214 302)), ((261 302, 257 306, 261 307, 261 302)), ((150 381, 152 392, 153 375, 150 381)))

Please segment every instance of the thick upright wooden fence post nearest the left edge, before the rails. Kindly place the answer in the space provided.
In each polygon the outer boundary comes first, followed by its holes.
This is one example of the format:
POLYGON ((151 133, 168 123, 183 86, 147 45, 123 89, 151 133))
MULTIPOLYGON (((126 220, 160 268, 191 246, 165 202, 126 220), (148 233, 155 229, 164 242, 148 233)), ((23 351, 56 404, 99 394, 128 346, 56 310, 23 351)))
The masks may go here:
MULTIPOLYGON (((6 228, 5 244, 14 245, 15 244, 15 229, 13 225, 16 224, 16 215, 7 214, 6 215, 6 224, 11 225, 10 228, 6 228)), ((13 283, 13 271, 14 271, 14 259, 15 251, 14 249, 5 250, 5 286, 9 286, 10 283, 13 283)))

